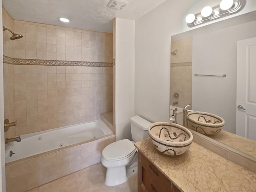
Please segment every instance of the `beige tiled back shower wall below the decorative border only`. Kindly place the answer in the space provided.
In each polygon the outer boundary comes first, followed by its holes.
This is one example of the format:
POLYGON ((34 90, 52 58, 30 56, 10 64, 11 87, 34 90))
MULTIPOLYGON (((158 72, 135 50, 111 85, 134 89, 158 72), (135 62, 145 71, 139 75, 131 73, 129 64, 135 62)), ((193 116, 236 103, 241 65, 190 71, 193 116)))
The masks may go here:
POLYGON ((113 68, 14 65, 15 134, 100 119, 113 106, 113 68))

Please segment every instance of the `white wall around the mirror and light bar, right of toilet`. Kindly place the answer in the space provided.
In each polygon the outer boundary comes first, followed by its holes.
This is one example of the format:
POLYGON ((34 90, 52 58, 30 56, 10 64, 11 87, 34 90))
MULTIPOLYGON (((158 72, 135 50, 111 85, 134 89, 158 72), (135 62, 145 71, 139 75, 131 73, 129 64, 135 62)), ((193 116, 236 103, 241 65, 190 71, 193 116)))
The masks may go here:
MULTIPOLYGON (((135 114, 150 122, 169 121, 170 36, 188 28, 185 17, 202 3, 213 0, 166 0, 135 23, 135 114), (184 24, 185 23, 185 24, 184 24)), ((220 2, 220 0, 214 0, 220 2)), ((193 12, 196 14, 200 12, 193 12)), ((247 0, 243 13, 256 10, 247 0)), ((233 14, 230 17, 237 16, 233 14)), ((226 19, 226 18, 225 18, 226 19)), ((211 24, 212 22, 208 22, 211 24)), ((202 25, 201 25, 202 26, 202 25)), ((192 85, 193 86, 193 85, 192 85)))

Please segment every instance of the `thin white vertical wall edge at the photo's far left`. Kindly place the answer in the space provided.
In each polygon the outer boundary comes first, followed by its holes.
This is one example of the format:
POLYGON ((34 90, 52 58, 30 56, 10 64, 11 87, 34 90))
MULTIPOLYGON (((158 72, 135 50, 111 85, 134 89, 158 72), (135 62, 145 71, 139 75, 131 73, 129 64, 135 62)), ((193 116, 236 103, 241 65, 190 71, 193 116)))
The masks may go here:
MULTIPOLYGON (((2 7, 2 0, 0 0, 2 7)), ((0 28, 3 28, 2 9, 0 9, 0 28)), ((6 191, 4 155, 4 70, 3 70, 3 30, 0 30, 0 192, 6 191)))

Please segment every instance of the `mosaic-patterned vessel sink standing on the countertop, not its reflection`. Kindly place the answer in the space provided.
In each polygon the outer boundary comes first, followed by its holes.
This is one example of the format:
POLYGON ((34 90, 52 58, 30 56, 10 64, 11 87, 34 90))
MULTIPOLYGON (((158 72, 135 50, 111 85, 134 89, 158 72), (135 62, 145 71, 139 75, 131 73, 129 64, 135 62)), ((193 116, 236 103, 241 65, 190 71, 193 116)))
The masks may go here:
POLYGON ((154 147, 163 154, 176 156, 186 152, 193 141, 193 135, 184 126, 168 122, 152 123, 148 128, 154 147))

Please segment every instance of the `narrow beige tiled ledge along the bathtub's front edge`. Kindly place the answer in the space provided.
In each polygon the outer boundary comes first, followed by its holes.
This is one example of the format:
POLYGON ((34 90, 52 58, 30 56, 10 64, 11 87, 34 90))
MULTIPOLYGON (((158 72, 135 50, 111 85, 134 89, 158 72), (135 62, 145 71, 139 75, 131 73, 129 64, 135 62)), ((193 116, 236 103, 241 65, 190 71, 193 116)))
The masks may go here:
POLYGON ((111 137, 111 136, 116 137, 116 135, 114 133, 110 133, 110 134, 107 134, 107 135, 104 135, 104 136, 100 136, 98 138, 93 138, 93 139, 90 139, 90 140, 87 140, 87 141, 79 142, 79 143, 76 143, 76 144, 64 146, 62 148, 50 150, 50 151, 43 152, 43 153, 40 153, 40 154, 36 154, 36 155, 32 155, 32 156, 25 157, 25 158, 22 158, 22 159, 18 159, 18 160, 15 160, 15 161, 11 161, 11 162, 6 163, 5 166, 10 166, 10 165, 17 164, 17 163, 20 163, 20 162, 23 162, 23 161, 32 160, 34 158, 38 158, 38 157, 41 157, 41 156, 46 156, 46 155, 49 155, 49 154, 52 154, 52 153, 56 153, 56 152, 59 152, 59 151, 62 151, 62 150, 66 150, 68 148, 72 148, 72 147, 75 147, 75 146, 78 146, 78 145, 86 144, 86 143, 89 143, 89 142, 93 142, 93 141, 100 140, 100 139, 107 138, 107 137, 111 137))

